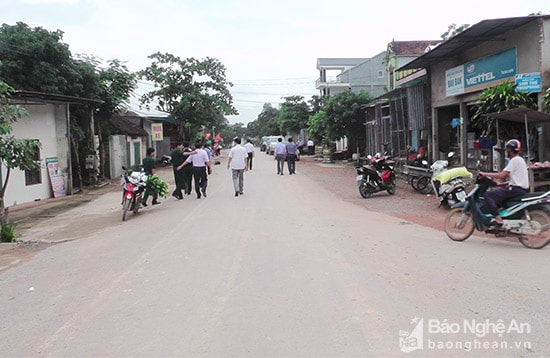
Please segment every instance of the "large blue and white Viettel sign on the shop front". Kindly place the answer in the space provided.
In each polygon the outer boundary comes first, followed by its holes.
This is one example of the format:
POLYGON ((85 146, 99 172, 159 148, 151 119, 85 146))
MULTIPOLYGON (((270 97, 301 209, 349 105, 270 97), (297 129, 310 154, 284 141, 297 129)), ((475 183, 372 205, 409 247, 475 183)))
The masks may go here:
POLYGON ((516 48, 511 48, 445 71, 447 97, 480 91, 514 80, 517 73, 516 57, 516 48))

